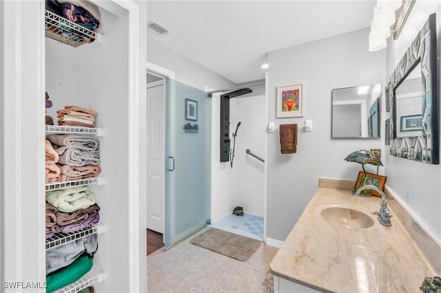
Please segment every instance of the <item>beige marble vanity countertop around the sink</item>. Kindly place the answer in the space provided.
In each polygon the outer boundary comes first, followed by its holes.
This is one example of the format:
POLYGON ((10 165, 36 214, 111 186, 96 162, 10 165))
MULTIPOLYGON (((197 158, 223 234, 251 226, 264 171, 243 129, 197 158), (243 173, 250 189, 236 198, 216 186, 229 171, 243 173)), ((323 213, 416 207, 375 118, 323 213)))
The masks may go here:
POLYGON ((424 277, 435 273, 396 217, 386 227, 371 214, 380 202, 379 197, 318 188, 271 261, 271 272, 325 292, 421 292, 424 277), (373 226, 329 224, 320 213, 334 205, 362 211, 373 219, 373 226))

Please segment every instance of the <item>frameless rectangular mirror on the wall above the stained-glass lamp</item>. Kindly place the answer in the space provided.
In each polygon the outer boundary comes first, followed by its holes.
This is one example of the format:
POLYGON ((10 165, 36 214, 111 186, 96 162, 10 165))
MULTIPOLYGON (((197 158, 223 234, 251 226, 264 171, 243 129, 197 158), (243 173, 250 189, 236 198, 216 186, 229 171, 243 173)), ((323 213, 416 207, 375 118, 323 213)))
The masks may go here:
POLYGON ((381 85, 332 90, 331 138, 380 138, 381 85))

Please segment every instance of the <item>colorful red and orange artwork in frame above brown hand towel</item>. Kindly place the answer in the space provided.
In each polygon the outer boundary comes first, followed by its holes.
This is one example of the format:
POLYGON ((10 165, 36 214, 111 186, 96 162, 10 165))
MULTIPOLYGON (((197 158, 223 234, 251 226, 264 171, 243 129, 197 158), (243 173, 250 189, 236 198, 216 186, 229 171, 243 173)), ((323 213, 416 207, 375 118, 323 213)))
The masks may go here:
POLYGON ((303 117, 302 85, 277 87, 277 118, 303 117))

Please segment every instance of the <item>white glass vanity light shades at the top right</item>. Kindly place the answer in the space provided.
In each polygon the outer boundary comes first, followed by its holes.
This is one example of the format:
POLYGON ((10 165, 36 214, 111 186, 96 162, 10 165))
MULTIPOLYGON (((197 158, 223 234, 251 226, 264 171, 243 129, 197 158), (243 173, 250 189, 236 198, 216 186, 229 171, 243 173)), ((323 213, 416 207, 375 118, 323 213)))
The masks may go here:
POLYGON ((369 32, 369 51, 378 51, 387 46, 391 35, 391 25, 395 23, 395 11, 402 6, 402 0, 378 0, 373 8, 371 32, 369 32))

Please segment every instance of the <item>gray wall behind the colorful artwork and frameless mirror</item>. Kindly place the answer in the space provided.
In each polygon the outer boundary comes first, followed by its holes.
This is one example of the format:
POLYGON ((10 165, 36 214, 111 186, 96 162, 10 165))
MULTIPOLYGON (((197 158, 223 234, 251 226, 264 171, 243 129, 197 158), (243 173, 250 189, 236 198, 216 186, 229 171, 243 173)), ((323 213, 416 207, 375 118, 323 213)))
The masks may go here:
MULTIPOLYGON (((314 195, 318 177, 356 180, 361 166, 343 160, 346 155, 384 144, 384 135, 381 140, 331 139, 331 90, 384 85, 386 80, 386 52, 369 52, 368 34, 369 29, 363 29, 269 52, 267 115, 276 122, 276 132, 267 133, 267 237, 271 239, 287 237, 314 195), (277 119, 277 87, 298 83, 303 85, 304 116, 277 119), (313 122, 312 132, 304 131, 306 119, 313 122), (298 124, 297 153, 283 155, 278 125, 291 123, 298 124)), ((376 172, 373 166, 366 169, 376 172)))

